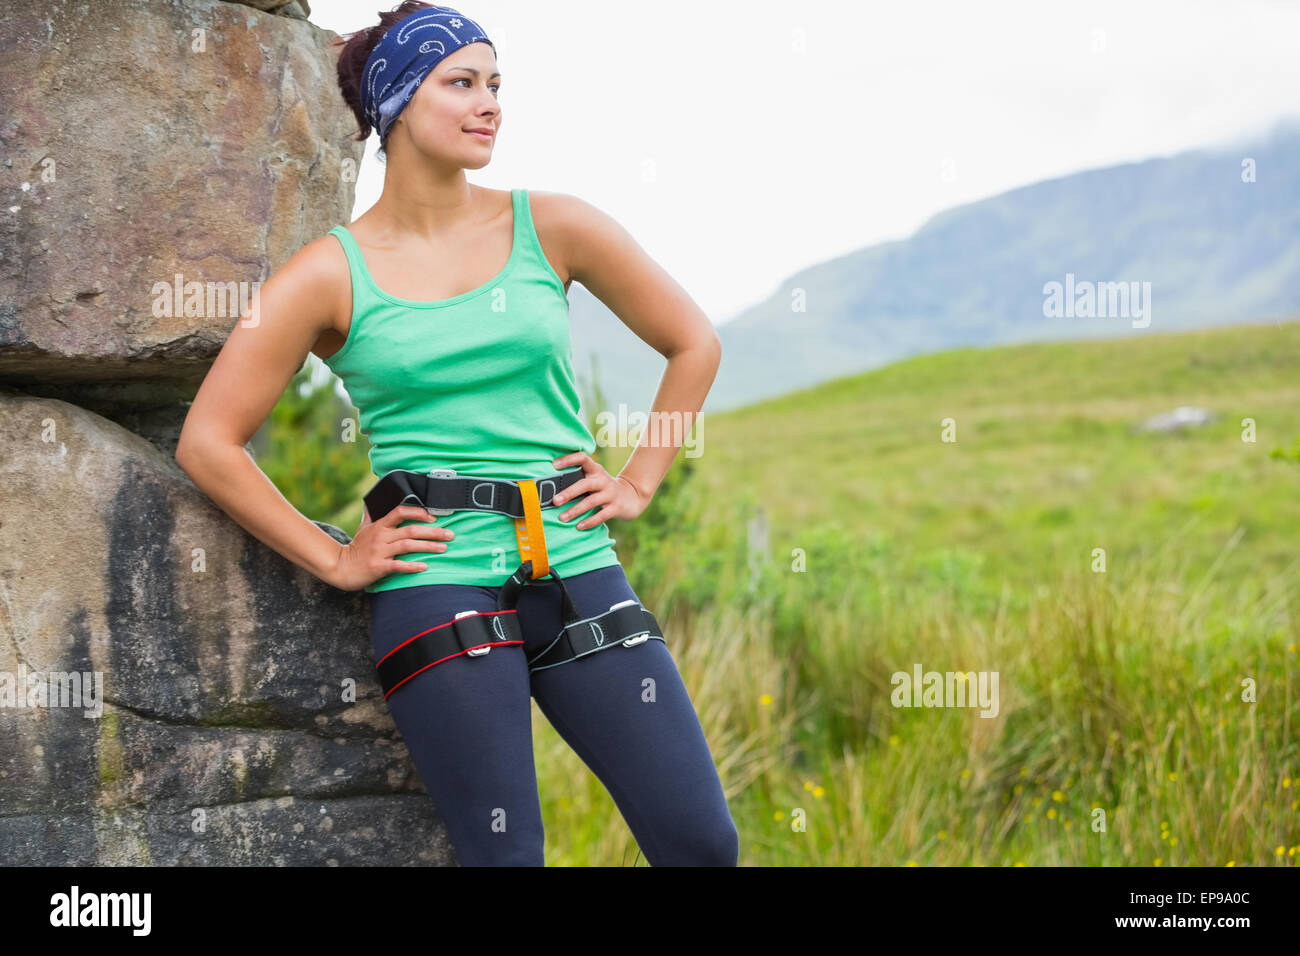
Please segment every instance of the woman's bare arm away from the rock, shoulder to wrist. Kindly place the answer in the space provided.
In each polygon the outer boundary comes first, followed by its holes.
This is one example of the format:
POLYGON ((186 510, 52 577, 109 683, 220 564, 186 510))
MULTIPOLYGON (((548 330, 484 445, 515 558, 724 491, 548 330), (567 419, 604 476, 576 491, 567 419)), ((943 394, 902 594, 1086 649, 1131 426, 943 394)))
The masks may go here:
POLYGON ((699 306, 614 219, 576 196, 538 195, 537 206, 545 207, 538 217, 545 217, 566 287, 569 280, 581 282, 668 360, 642 441, 618 475, 649 502, 699 416, 722 341, 699 306), (646 444, 646 436, 664 438, 646 444))

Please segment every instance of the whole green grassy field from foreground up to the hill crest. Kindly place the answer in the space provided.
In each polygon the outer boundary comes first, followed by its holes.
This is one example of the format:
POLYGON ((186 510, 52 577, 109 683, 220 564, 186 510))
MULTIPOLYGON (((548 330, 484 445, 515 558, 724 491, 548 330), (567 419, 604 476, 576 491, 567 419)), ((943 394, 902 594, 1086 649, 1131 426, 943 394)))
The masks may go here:
MULTIPOLYGON (((1296 436, 1300 323, 961 349, 708 418, 611 531, 741 864, 1296 865, 1296 436), (1217 418, 1134 428, 1184 405, 1217 418), (894 706, 916 665, 997 672, 996 717, 894 706)), ((533 715, 547 864, 646 865, 533 715)))

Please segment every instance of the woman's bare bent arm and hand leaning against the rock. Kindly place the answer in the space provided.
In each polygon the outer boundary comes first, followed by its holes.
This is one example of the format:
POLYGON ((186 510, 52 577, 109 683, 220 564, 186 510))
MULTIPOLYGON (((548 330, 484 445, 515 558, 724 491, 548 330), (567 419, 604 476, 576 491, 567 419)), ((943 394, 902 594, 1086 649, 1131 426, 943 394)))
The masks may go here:
POLYGON ((378 522, 369 514, 348 545, 295 509, 246 450, 302 368, 307 352, 351 311, 351 280, 338 268, 343 251, 322 235, 295 252, 263 282, 252 307, 230 330, 181 428, 177 464, 244 531, 278 554, 343 591, 359 591, 390 572, 425 564, 398 561, 407 551, 445 551, 452 537, 422 507, 403 505, 378 522), (330 243, 334 248, 330 248, 330 243), (402 522, 422 524, 396 527, 402 522))

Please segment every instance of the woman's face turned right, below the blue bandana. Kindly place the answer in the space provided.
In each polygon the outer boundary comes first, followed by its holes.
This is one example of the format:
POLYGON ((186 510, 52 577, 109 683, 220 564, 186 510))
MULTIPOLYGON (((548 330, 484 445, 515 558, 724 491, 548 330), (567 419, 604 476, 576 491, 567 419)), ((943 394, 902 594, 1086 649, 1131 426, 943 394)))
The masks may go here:
POLYGON ((465 169, 491 160, 500 130, 500 73, 486 43, 471 43, 443 57, 398 113, 416 150, 465 169), (480 135, 472 130, 488 130, 480 135))

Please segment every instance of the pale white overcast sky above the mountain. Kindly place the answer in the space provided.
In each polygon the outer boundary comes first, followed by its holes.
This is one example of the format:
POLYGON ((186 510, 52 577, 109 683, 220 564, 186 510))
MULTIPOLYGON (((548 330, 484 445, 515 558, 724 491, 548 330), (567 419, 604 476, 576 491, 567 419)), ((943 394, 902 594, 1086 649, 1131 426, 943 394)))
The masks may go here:
MULTIPOLYGON (((344 34, 395 5, 311 0, 311 20, 344 34)), ((1300 116, 1291 0, 451 5, 502 72, 469 181, 604 209, 719 324, 940 209, 1300 116)))

